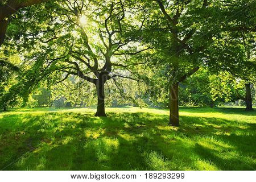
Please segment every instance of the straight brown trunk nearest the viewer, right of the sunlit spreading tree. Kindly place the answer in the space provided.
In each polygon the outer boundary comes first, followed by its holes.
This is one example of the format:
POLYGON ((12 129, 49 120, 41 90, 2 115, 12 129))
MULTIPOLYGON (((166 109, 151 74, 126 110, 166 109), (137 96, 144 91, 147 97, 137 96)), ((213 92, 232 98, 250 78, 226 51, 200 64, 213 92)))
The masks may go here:
POLYGON ((170 125, 179 126, 179 105, 178 105, 179 82, 171 85, 169 92, 170 92, 169 93, 170 125))

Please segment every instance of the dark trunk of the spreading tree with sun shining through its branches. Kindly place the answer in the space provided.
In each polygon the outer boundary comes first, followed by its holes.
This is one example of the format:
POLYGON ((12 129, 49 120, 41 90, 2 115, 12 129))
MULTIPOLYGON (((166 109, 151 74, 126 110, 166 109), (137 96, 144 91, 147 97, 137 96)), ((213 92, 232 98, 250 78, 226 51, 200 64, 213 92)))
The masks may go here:
POLYGON ((97 105, 97 112, 95 116, 98 117, 106 117, 105 113, 105 92, 104 92, 104 81, 103 79, 99 78, 96 84, 97 88, 97 97, 98 97, 98 105, 97 105))

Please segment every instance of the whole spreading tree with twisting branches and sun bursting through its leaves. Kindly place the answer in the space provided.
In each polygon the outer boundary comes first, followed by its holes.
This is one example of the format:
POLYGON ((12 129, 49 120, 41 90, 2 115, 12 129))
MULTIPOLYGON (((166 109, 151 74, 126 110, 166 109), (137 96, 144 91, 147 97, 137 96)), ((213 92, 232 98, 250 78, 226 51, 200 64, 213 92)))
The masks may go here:
MULTIPOLYGON (((129 7, 129 2, 122 1, 50 3, 44 11, 30 9, 19 26, 22 34, 17 35, 13 28, 10 40, 16 39, 19 51, 27 52, 25 60, 34 60, 42 76, 57 73, 63 76, 60 82, 75 75, 96 86, 96 116, 105 116, 106 82, 116 77, 137 80, 129 68, 142 63, 127 60, 129 55, 148 49, 123 36, 143 26, 143 22, 130 22, 133 15, 129 7)), ((18 28, 17 24, 13 26, 18 28)))

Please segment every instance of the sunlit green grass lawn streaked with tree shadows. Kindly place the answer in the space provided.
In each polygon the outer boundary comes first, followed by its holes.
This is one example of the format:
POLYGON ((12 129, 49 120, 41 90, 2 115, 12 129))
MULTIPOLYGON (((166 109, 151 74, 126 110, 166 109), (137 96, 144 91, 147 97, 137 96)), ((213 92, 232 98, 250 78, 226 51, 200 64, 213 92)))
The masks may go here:
POLYGON ((3 170, 254 170, 256 111, 108 108, 0 113, 3 170))

